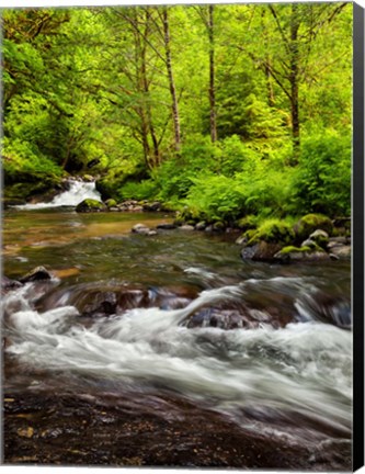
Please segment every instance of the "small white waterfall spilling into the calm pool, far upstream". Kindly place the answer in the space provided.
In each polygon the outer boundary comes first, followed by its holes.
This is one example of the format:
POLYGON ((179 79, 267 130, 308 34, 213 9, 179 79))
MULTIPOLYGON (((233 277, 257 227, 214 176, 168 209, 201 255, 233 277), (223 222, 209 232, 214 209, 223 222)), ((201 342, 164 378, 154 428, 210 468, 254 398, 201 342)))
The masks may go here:
POLYGON ((69 189, 56 195, 48 203, 24 204, 14 206, 20 210, 41 210, 46 207, 77 206, 85 199, 101 201, 101 195, 95 189, 94 182, 69 180, 69 189))

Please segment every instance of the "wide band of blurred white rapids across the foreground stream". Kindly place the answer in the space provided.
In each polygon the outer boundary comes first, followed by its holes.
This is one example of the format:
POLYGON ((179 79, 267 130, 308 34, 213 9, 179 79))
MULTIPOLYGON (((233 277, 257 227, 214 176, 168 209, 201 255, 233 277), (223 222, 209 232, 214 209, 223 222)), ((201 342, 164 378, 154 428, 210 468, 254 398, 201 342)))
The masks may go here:
POLYGON ((244 295, 242 285, 204 291, 182 309, 135 308, 87 327, 73 306, 34 311, 31 293, 28 283, 3 301, 7 351, 25 364, 159 384, 210 399, 231 416, 241 409, 295 413, 350 437, 351 331, 313 320, 281 329, 181 325, 196 308, 244 295))

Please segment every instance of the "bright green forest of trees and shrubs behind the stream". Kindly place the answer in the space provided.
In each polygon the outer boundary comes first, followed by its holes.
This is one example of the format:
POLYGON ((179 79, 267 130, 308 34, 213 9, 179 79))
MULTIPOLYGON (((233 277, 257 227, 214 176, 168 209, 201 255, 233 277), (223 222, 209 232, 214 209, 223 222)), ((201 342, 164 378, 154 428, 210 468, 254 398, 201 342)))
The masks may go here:
POLYGON ((352 14, 4 10, 5 196, 92 174, 104 199, 213 221, 350 215, 352 14))

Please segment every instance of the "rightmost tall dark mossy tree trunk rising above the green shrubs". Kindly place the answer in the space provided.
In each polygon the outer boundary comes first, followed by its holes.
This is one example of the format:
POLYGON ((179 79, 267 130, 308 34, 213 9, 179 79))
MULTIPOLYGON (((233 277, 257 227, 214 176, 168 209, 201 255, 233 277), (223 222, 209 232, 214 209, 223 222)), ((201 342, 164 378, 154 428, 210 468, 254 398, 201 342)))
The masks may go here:
POLYGON ((299 123, 299 78, 298 78, 298 64, 299 64, 299 49, 298 49, 298 5, 292 3, 292 18, 290 18, 290 113, 292 113, 292 136, 293 136, 293 151, 294 165, 297 163, 299 147, 300 147, 300 123, 299 123))

